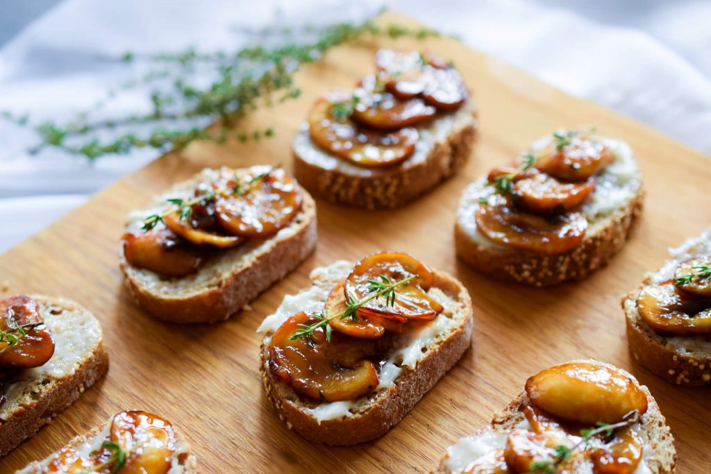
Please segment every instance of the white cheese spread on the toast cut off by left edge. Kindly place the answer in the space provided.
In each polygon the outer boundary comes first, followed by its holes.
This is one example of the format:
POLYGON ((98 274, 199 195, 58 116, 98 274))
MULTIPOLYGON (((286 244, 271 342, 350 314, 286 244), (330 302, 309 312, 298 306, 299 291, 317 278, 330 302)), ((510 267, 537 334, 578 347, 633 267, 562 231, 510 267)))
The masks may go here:
POLYGON ((87 311, 66 311, 42 300, 38 303, 54 338, 54 355, 45 365, 23 370, 6 384, 7 401, 0 406, 0 419, 7 419, 19 406, 32 402, 26 392, 28 389, 41 391, 43 387, 38 384, 41 380, 73 375, 102 340, 99 321, 87 311))

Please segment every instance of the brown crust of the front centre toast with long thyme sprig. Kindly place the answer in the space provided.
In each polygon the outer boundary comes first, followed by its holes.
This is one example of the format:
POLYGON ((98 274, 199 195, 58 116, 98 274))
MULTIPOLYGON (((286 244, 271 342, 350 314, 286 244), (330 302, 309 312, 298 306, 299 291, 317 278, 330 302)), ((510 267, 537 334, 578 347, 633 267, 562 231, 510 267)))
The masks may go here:
POLYGON ((471 298, 464 286, 453 276, 435 271, 434 286, 451 294, 466 313, 461 323, 446 337, 437 340, 427 351, 414 370, 403 367, 392 386, 376 392, 365 409, 343 419, 316 421, 309 414, 299 396, 282 379, 269 370, 269 340, 262 340, 260 368, 267 399, 282 421, 286 421, 304 438, 315 443, 331 446, 350 446, 383 436, 395 426, 424 397, 434 384, 450 370, 471 345, 472 307, 471 298))

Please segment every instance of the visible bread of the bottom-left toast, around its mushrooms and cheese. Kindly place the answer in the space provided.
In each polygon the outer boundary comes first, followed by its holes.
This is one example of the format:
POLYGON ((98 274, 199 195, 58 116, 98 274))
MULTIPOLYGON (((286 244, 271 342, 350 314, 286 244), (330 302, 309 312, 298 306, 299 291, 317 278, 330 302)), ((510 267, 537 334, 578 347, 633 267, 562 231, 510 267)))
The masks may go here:
MULTIPOLYGON (((113 419, 113 418, 112 418, 113 419)), ((102 443, 107 441, 109 437, 109 430, 111 429, 112 419, 109 419, 102 426, 97 426, 88 433, 76 436, 70 441, 64 448, 74 448, 77 453, 86 454, 92 453, 92 451, 98 451, 101 448, 102 443)), ((173 431, 176 433, 176 449, 171 457, 171 468, 166 474, 191 474, 199 473, 198 470, 198 460, 191 454, 190 446, 185 441, 183 434, 178 428, 173 425, 173 431)), ((43 460, 36 460, 32 463, 26 465, 21 470, 16 471, 15 474, 41 474, 46 472, 44 468, 48 463, 52 462, 55 458, 60 456, 60 451, 50 454, 43 460)))

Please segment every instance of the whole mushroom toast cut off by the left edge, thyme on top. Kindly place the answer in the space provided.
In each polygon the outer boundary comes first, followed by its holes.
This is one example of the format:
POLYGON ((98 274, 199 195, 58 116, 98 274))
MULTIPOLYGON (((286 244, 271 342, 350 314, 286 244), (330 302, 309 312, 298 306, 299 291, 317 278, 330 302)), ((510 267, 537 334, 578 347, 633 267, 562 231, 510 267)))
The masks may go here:
POLYGON ((0 456, 33 436, 109 368, 99 321, 73 301, 0 301, 0 456))

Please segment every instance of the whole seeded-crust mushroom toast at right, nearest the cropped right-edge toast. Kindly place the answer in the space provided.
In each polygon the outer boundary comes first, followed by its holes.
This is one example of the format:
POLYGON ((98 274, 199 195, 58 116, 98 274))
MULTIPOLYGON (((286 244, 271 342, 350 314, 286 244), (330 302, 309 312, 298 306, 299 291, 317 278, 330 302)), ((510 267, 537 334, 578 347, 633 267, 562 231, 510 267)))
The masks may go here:
POLYGON ((464 190, 456 253, 504 281, 584 279, 624 246, 642 200, 627 144, 594 131, 557 131, 464 190))

